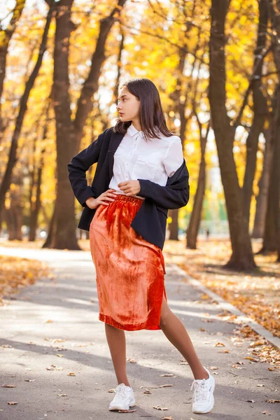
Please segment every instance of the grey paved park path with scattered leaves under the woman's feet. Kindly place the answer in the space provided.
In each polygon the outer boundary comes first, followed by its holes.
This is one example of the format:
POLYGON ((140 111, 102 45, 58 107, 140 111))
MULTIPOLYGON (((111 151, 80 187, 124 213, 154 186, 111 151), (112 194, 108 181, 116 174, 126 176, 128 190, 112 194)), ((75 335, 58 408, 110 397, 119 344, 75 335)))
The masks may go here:
POLYGON ((239 325, 222 319, 220 304, 166 264, 169 307, 181 318, 195 349, 216 379, 211 413, 193 414, 193 375, 162 331, 127 331, 127 372, 136 412, 109 412, 116 377, 104 323, 98 320, 94 265, 89 252, 0 247, 0 254, 48 262, 54 279, 40 279, 0 307, 0 419, 280 419, 278 372, 252 356, 239 325), (208 321, 211 322, 208 322, 208 321), (222 342, 225 346, 215 346, 222 342), (221 351, 228 350, 228 353, 221 351), (239 363, 244 363, 240 364, 239 363), (237 369, 232 365, 238 365, 237 369), (163 374, 173 374, 164 377, 163 374), (3 387, 4 384, 15 387, 3 387), (172 386, 163 386, 170 384, 172 386), (258 386, 262 384, 263 386, 258 386), (150 394, 144 392, 148 390, 150 394), (253 400, 247 402, 246 400, 253 400), (18 402, 8 405, 8 402, 18 402), (167 407, 158 410, 153 406, 167 407), (266 414, 262 414, 266 412, 266 414))

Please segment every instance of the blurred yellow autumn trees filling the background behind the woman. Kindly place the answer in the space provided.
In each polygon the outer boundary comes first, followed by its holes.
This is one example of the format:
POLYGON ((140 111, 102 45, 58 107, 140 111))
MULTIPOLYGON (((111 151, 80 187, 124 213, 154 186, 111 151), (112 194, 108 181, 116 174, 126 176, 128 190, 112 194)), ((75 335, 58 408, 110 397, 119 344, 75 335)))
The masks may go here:
POLYGON ((279 0, 10 0, 0 25, 2 237, 79 249, 66 165, 116 123, 117 84, 147 77, 190 172, 170 239, 230 237, 235 269, 252 237, 280 259, 279 0))

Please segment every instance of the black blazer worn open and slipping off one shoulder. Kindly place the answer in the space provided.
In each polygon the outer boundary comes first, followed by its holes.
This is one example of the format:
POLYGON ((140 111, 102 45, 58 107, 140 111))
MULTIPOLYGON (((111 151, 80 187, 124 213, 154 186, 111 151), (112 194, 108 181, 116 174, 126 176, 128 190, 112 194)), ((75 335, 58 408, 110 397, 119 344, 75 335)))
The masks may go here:
MULTIPOLYGON (((73 193, 78 202, 85 207, 78 223, 80 229, 90 230, 90 223, 96 209, 87 207, 85 200, 89 197, 99 197, 109 189, 113 176, 113 155, 124 135, 113 132, 113 127, 106 129, 90 146, 74 156, 67 165, 73 193), (97 169, 92 186, 87 186, 85 172, 96 162, 97 169)), ((146 241, 161 249, 165 244, 168 209, 180 209, 188 203, 190 190, 188 179, 185 160, 181 167, 167 179, 166 186, 160 186, 146 179, 138 179, 141 190, 137 195, 145 197, 146 200, 143 200, 130 226, 146 241)))

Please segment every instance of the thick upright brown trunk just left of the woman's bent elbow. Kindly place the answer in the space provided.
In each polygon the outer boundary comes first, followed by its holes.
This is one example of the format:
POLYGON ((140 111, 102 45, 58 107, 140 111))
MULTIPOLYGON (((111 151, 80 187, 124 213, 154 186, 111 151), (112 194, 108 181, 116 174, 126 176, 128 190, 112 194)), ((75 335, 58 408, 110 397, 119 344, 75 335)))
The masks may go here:
POLYGON ((69 38, 73 30, 73 0, 57 3, 54 73, 52 94, 55 108, 57 145, 57 195, 52 220, 50 248, 80 249, 76 239, 74 196, 68 179, 67 164, 75 154, 69 97, 69 38))

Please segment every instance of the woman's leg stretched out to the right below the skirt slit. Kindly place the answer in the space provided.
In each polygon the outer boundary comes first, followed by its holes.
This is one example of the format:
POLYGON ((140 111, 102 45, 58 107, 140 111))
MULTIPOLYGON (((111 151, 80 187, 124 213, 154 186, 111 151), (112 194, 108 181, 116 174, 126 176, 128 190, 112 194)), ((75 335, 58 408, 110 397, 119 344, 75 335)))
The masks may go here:
POLYGON ((195 353, 195 348, 182 321, 169 309, 165 296, 162 299, 160 328, 182 356, 186 358, 195 379, 207 379, 208 373, 195 353))

